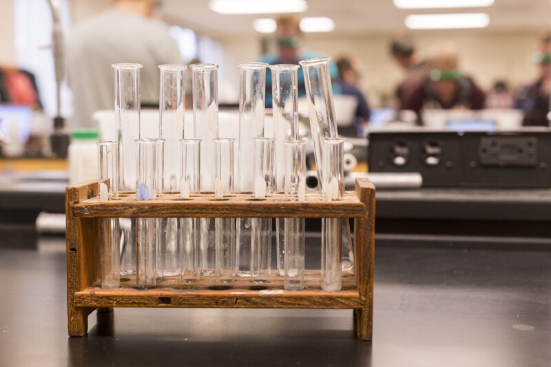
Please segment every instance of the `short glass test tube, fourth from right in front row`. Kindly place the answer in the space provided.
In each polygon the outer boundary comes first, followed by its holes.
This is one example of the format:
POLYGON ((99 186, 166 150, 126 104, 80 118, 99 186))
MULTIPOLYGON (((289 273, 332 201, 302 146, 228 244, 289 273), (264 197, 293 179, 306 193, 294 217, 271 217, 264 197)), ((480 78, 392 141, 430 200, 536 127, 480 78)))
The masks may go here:
MULTIPOLYGON (((233 143, 235 139, 215 139, 214 196, 233 195, 233 143)), ((218 282, 230 283, 236 277, 236 219, 215 218, 214 231, 218 255, 218 282)))

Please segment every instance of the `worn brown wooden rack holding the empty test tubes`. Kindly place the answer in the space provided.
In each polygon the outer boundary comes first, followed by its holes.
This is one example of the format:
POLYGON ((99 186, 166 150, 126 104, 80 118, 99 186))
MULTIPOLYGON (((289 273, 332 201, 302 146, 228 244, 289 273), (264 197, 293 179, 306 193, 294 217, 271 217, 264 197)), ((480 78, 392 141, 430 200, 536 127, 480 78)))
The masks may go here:
MULTIPOLYGON (((87 333, 88 315, 114 307, 219 307, 219 308, 327 308, 353 309, 358 339, 373 335, 373 260, 375 255, 375 187, 357 179, 355 191, 342 200, 324 202, 319 192, 308 192, 305 202, 289 201, 275 194, 265 200, 252 195, 215 199, 213 195, 182 200, 176 193, 151 201, 136 201, 134 193, 118 200, 99 202, 98 183, 67 187, 67 319, 70 336, 87 333), (355 266, 342 276, 342 290, 320 289, 320 271, 305 272, 302 291, 286 291, 283 277, 274 275, 266 289, 238 280, 231 289, 215 280, 192 286, 167 277, 156 289, 137 290, 132 280, 118 289, 101 289, 101 218, 354 218, 355 266)), ((277 271, 275 271, 277 272, 277 271)), ((176 277, 175 277, 176 278, 176 277)), ((246 278, 245 278, 246 279, 246 278)))

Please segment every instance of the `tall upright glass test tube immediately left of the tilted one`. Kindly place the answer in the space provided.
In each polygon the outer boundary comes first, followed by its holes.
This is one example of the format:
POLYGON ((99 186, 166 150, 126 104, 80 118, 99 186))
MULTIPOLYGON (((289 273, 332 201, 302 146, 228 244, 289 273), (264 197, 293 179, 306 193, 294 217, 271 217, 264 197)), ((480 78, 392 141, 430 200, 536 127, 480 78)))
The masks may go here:
MULTIPOLYGON (((298 76, 299 65, 270 65, 272 83, 273 137, 275 138, 275 191, 284 191, 284 143, 298 140, 298 76), (290 134, 289 134, 290 133, 290 134)), ((284 274, 284 221, 275 218, 275 249, 278 273, 284 274)))

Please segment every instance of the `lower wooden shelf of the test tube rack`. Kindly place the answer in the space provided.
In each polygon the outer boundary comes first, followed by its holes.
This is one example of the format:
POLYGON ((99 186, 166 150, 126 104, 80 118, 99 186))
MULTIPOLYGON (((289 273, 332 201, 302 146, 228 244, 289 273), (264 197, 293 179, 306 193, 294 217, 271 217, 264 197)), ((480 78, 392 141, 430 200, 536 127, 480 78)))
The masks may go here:
MULTIPOLYGON (((273 273, 277 273, 274 269, 273 273)), ((247 278, 222 284, 214 277, 182 283, 180 277, 165 277, 155 289, 135 289, 134 279, 118 289, 101 289, 99 284, 75 293, 75 304, 82 307, 224 307, 224 308, 361 308, 353 273, 343 274, 342 291, 320 289, 320 271, 304 275, 305 289, 286 291, 283 277, 272 275, 267 284, 251 283, 247 278)))

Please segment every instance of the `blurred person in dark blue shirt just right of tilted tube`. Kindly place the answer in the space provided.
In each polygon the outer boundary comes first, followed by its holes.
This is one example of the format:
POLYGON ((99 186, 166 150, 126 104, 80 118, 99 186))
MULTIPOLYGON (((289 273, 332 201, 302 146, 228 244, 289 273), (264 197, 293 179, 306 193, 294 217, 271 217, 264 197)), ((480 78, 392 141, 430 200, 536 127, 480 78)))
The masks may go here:
POLYGON ((354 96, 356 98, 357 107, 353 123, 357 129, 357 135, 363 136, 364 127, 369 121, 370 110, 364 93, 357 87, 360 79, 359 72, 357 71, 357 67, 354 67, 353 61, 346 57, 342 57, 337 61, 337 68, 340 76, 337 83, 338 92, 345 96, 354 96))

